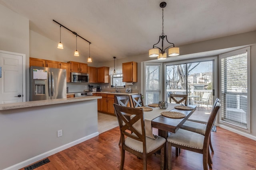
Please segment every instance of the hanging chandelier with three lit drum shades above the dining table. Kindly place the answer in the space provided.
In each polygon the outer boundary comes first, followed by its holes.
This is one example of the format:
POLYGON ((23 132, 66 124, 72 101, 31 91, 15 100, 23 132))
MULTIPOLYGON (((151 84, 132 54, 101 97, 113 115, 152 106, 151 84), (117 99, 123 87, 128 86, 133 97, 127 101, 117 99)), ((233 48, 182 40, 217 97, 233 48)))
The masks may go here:
POLYGON ((167 35, 164 35, 164 7, 166 7, 166 2, 161 2, 160 7, 162 8, 162 35, 159 36, 159 40, 153 45, 153 48, 148 51, 148 55, 149 57, 158 57, 158 60, 165 60, 167 58, 167 53, 165 52, 167 49, 168 56, 174 57, 180 55, 180 48, 175 47, 174 43, 170 43, 167 39, 167 35), (165 49, 164 39, 169 43, 169 46, 165 49), (161 48, 156 46, 160 41, 162 42, 161 48))

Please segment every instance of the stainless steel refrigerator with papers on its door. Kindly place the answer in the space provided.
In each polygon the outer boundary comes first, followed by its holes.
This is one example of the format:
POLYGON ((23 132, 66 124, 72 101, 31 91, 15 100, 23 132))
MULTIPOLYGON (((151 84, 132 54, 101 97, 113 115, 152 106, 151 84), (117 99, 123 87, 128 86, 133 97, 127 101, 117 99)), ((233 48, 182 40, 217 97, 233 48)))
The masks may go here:
POLYGON ((66 98, 66 69, 30 67, 30 101, 66 98))

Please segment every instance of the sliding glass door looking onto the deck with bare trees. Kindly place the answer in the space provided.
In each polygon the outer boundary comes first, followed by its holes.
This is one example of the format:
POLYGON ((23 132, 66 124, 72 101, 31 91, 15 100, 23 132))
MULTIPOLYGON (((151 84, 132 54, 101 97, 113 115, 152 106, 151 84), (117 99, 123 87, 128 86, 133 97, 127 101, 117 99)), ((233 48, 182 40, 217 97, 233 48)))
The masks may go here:
POLYGON ((189 104, 193 104, 193 100, 200 100, 204 93, 210 93, 207 104, 212 105, 213 70, 213 60, 165 64, 166 101, 170 102, 170 94, 188 94, 189 104))

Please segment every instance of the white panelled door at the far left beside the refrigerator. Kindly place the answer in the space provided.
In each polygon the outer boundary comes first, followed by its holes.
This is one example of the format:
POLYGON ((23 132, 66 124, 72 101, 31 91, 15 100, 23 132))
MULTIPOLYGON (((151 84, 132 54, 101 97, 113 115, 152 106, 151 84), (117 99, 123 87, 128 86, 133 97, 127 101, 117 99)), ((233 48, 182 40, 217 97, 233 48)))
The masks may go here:
POLYGON ((23 102, 24 55, 0 51, 0 104, 23 102))

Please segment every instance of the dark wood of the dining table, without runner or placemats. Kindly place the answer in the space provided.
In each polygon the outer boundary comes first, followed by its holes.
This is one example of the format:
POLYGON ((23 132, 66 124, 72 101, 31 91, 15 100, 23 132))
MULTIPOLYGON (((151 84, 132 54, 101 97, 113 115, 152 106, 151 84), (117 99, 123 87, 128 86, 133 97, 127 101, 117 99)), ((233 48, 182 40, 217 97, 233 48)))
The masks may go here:
MULTIPOLYGON (((170 104, 169 104, 170 105, 170 104)), ((151 121, 151 125, 152 127, 158 129, 158 135, 164 137, 165 139, 167 139, 168 137, 168 133, 176 133, 180 127, 183 125, 183 123, 190 117, 190 115, 192 115, 192 113, 194 113, 194 111, 196 110, 196 106, 195 105, 186 105, 189 107, 194 108, 193 110, 182 110, 182 109, 172 109, 172 111, 177 111, 180 113, 184 113, 186 115, 186 117, 182 118, 182 119, 173 119, 173 118, 169 118, 169 117, 165 117, 163 115, 160 115, 156 118, 154 118, 151 121)), ((160 109, 159 107, 155 110, 158 112, 162 112, 163 110, 160 109)), ((166 143, 166 154, 164 155, 164 167, 166 169, 167 167, 167 143, 166 143)))

